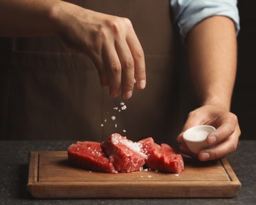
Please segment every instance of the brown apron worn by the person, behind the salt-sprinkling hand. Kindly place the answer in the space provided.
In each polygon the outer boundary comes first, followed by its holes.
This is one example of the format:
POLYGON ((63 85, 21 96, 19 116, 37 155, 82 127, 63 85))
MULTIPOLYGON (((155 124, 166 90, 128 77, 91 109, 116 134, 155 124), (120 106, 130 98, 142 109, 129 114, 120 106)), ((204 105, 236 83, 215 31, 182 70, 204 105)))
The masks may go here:
POLYGON ((131 20, 145 52, 147 88, 135 90, 124 101, 127 109, 118 112, 113 107, 120 109, 122 99, 111 99, 100 87, 88 57, 54 36, 14 39, 5 138, 100 141, 121 133, 134 140, 152 136, 158 142, 176 141, 181 112, 170 0, 71 2, 131 20))

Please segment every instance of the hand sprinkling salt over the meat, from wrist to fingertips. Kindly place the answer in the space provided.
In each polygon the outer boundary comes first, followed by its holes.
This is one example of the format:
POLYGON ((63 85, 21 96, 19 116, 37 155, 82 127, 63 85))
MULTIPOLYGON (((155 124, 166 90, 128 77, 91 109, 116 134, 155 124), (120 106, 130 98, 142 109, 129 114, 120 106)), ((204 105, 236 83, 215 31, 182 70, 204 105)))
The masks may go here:
POLYGON ((131 21, 60 1, 55 16, 58 34, 69 48, 88 55, 95 64, 100 84, 117 97, 129 99, 134 79, 139 89, 146 84, 145 57, 131 21))

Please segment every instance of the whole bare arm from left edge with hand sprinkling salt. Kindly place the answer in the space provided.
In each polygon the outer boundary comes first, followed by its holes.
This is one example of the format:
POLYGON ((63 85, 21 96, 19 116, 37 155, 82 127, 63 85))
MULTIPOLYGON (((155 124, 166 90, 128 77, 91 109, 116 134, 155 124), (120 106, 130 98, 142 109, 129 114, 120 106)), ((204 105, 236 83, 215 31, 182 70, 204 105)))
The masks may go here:
POLYGON ((0 1, 0 36, 59 35, 88 55, 109 95, 129 99, 146 84, 145 57, 131 21, 60 0, 0 1))

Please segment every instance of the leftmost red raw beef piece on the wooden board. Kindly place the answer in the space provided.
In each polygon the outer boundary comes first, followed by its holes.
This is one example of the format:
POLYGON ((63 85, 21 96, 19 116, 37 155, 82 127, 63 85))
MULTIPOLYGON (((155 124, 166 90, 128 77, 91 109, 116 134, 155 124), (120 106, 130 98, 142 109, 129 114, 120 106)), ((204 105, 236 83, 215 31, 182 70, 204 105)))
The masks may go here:
POLYGON ((68 146, 68 159, 72 164, 104 173, 118 173, 111 160, 102 152, 99 142, 77 141, 68 146))

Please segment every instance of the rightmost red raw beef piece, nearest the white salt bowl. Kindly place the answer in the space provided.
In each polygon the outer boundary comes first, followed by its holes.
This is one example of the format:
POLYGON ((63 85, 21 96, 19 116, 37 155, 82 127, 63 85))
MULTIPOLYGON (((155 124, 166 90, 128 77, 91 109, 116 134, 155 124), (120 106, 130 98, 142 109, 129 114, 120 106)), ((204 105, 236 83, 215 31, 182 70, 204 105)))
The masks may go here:
POLYGON ((183 158, 169 145, 161 144, 160 146, 154 143, 152 137, 138 142, 142 144, 142 151, 147 155, 148 168, 167 173, 181 173, 184 170, 183 158))

